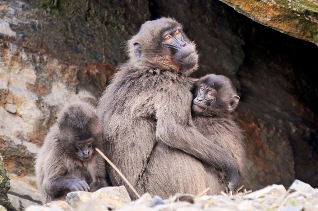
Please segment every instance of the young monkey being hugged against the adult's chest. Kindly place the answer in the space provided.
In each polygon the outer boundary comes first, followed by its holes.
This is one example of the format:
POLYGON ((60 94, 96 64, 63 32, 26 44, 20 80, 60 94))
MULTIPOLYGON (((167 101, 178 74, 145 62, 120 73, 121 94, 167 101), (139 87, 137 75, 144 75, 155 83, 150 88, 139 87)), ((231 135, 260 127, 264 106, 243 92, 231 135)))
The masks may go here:
MULTIPOLYGON (((193 90, 191 111, 194 125, 211 142, 234 157, 241 175, 245 163, 244 136, 232 115, 239 103, 232 82, 225 76, 210 74, 200 78, 193 90)), ((206 164, 204 168, 207 172, 206 185, 211 188, 208 194, 228 191, 222 172, 206 164)))

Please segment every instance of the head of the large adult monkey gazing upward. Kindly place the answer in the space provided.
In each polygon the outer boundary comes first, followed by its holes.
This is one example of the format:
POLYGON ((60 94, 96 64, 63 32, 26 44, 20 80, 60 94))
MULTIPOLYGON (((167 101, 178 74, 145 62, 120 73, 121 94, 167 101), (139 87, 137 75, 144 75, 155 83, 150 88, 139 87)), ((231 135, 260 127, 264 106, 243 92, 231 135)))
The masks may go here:
POLYGON ((198 67, 195 44, 171 18, 144 23, 129 42, 130 63, 142 68, 159 68, 189 75, 198 67))

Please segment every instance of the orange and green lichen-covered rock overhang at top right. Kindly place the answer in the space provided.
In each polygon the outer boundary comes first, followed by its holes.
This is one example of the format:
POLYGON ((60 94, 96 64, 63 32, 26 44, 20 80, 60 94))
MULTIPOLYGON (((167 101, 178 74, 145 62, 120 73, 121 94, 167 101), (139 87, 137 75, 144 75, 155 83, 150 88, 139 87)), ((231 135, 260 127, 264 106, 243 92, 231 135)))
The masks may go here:
POLYGON ((318 2, 302 0, 220 0, 252 20, 318 45, 318 2))

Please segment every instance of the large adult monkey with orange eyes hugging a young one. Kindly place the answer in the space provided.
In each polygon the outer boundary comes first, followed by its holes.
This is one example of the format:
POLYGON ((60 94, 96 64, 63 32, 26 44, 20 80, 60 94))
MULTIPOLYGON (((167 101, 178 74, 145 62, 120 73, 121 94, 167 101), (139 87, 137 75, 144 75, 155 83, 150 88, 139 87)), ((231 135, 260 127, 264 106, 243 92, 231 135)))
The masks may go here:
MULTIPOLYGON (((171 18, 147 21, 129 40, 128 53, 128 62, 114 74, 97 106, 105 154, 140 193, 156 190, 166 197, 203 191, 205 172, 197 159, 224 172, 235 190, 233 157, 191 120, 193 81, 186 76, 197 69, 198 56, 180 23, 171 18), (157 145, 163 147, 158 150, 157 145), (179 153, 174 154, 178 159, 164 160, 171 150, 179 153)), ((113 185, 125 185, 109 166, 107 172, 113 185)))

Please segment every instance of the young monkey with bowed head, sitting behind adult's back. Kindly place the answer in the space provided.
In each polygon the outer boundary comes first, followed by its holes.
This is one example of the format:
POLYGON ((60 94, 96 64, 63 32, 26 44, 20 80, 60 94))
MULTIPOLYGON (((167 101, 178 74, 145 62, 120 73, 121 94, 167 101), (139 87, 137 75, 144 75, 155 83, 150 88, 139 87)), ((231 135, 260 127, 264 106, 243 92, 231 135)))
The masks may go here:
POLYGON ((103 141, 100 120, 92 106, 84 102, 67 105, 36 157, 43 203, 65 200, 68 192, 107 187, 105 162, 96 155, 95 147, 103 148, 103 141))

